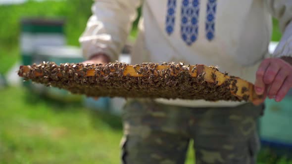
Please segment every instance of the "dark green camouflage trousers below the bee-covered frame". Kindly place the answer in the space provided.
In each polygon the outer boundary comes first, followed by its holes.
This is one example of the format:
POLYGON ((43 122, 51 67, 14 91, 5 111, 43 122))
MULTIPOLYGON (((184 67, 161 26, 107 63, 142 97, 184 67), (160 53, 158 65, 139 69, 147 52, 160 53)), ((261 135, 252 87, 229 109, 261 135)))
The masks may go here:
POLYGON ((263 106, 188 108, 131 100, 123 111, 123 164, 184 164, 194 140, 195 164, 255 164, 256 120, 263 106))

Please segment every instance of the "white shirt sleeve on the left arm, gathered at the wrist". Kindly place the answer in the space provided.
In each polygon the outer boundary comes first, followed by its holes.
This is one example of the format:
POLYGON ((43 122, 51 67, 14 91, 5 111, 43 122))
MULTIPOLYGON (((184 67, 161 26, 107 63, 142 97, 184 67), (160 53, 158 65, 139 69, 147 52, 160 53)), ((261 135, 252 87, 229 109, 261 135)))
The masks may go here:
POLYGON ((86 59, 96 53, 118 59, 142 0, 95 0, 93 15, 79 39, 86 59))

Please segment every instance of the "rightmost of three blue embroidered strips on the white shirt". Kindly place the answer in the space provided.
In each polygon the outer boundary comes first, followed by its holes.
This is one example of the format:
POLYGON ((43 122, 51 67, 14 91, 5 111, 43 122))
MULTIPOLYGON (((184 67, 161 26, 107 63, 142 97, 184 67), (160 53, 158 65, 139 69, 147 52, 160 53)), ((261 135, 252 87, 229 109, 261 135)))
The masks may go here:
POLYGON ((217 8, 217 0, 208 0, 206 15, 206 38, 212 41, 215 37, 215 15, 217 8))

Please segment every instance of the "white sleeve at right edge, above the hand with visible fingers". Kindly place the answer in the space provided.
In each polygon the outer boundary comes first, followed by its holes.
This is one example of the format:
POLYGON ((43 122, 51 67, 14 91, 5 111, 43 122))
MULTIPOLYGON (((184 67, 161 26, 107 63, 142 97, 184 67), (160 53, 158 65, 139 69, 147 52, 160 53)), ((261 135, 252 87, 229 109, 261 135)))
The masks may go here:
POLYGON ((266 0, 272 16, 279 20, 283 33, 273 57, 292 57, 292 0, 266 0))

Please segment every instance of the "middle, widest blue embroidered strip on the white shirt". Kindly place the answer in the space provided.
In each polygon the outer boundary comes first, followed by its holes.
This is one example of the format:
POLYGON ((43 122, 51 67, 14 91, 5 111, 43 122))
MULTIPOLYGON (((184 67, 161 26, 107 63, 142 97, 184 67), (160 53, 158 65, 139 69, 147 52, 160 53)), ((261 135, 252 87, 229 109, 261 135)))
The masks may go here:
POLYGON ((198 37, 199 3, 199 0, 183 0, 181 35, 188 45, 192 45, 198 37))

